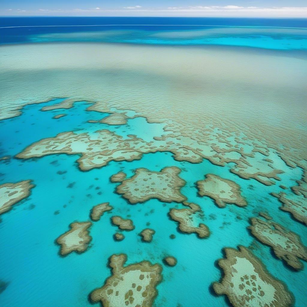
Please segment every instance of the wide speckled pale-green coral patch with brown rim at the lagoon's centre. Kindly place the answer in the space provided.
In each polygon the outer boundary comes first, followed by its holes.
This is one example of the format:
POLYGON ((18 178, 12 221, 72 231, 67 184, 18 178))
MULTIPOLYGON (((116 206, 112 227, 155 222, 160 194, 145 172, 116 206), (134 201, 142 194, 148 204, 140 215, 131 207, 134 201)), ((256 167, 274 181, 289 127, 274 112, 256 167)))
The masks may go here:
POLYGON ((180 192, 186 183, 178 176, 180 173, 181 169, 176 166, 165 167, 160 172, 139 168, 131 178, 122 181, 116 192, 131 204, 143 203, 152 198, 181 203, 187 198, 180 192))

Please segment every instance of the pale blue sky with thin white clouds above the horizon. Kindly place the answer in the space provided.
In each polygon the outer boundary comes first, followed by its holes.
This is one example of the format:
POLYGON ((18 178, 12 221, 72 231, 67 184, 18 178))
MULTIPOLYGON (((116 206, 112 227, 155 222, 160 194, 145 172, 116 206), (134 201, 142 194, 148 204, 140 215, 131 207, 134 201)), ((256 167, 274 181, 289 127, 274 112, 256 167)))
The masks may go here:
POLYGON ((307 17, 307 1, 1 0, 0 15, 307 17))

